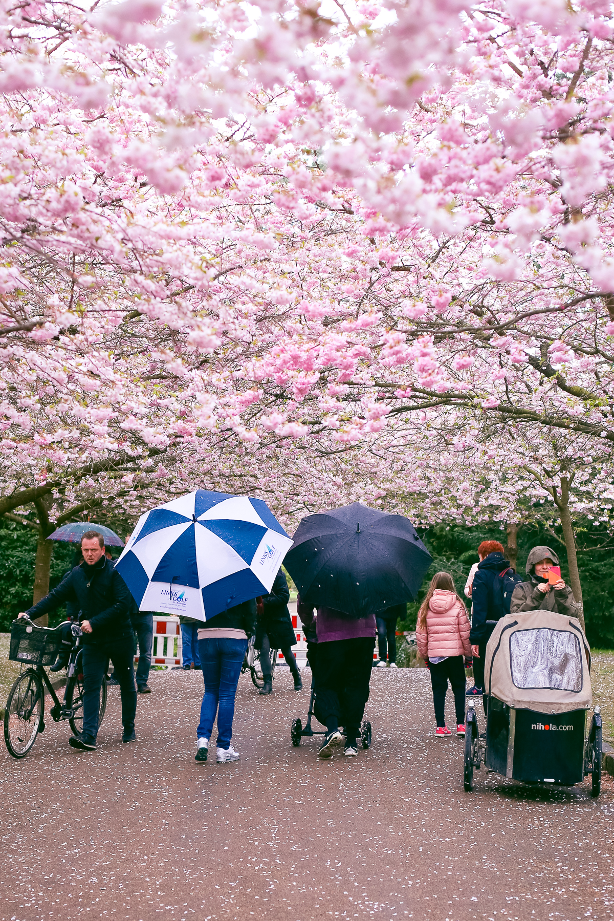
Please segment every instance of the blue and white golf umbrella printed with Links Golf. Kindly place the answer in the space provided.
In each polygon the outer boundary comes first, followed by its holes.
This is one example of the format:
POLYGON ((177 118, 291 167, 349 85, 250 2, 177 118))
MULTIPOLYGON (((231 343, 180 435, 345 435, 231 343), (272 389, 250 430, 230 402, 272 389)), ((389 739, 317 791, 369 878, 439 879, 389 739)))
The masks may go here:
POLYGON ((145 512, 115 568, 141 611, 205 621, 268 594, 291 546, 262 499, 197 489, 145 512))

